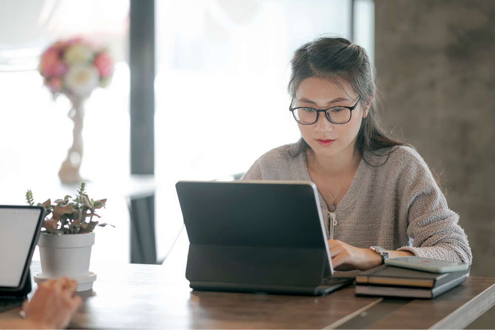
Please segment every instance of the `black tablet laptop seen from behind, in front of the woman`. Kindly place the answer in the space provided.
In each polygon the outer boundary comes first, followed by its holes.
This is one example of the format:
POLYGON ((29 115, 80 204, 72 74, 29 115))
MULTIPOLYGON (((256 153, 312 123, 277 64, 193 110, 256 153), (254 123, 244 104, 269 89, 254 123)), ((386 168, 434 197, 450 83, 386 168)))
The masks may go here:
POLYGON ((305 181, 179 181, 196 290, 327 294, 334 278, 318 192, 305 181))

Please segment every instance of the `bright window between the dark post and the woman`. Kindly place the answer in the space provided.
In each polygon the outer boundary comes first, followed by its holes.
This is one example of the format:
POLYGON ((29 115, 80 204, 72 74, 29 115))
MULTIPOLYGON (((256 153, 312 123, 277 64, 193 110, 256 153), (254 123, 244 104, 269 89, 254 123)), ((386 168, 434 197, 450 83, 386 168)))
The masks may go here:
MULTIPOLYGON (((182 226, 177 181, 246 172, 263 153, 299 139, 288 111, 290 58, 319 36, 349 38, 352 2, 155 3, 156 226, 158 254, 164 255, 182 226), (254 116, 253 106, 266 110, 264 120, 254 116)), ((369 33, 361 30, 369 29, 366 19, 372 17, 366 15, 373 12, 361 4, 354 12, 362 20, 354 29, 365 42, 369 33)))

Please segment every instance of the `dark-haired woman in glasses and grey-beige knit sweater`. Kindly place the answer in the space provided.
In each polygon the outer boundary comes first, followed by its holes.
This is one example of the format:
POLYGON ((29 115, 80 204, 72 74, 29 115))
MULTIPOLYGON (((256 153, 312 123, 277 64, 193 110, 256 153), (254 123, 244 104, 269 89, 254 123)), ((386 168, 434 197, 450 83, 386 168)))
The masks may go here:
POLYGON ((320 38, 291 61, 290 111, 301 140, 262 155, 242 180, 304 180, 318 188, 337 270, 417 255, 471 263, 467 236, 425 161, 379 125, 376 85, 363 48, 320 38))

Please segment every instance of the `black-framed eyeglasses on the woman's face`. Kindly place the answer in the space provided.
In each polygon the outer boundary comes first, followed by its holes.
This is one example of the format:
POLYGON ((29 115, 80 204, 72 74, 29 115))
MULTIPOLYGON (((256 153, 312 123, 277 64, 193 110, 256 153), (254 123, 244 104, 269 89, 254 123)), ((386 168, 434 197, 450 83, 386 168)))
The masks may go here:
POLYGON ((297 108, 289 108, 289 110, 294 115, 294 119, 301 125, 313 125, 316 123, 319 112, 325 112, 325 116, 332 124, 345 124, 349 122, 350 117, 352 116, 352 110, 356 108, 360 100, 361 97, 357 99, 354 106, 333 106, 324 110, 308 108, 307 106, 298 106, 297 108))

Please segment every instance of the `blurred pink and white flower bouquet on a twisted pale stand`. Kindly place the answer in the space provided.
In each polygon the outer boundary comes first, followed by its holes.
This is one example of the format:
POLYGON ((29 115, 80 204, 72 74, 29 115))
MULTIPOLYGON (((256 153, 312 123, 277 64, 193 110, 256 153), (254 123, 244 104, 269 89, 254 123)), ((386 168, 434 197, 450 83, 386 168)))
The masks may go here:
POLYGON ((65 94, 72 102, 69 118, 74 121, 74 143, 58 176, 62 183, 82 181, 83 102, 96 87, 107 87, 113 75, 113 60, 105 48, 93 47, 81 38, 56 42, 41 55, 39 71, 53 98, 65 94))

